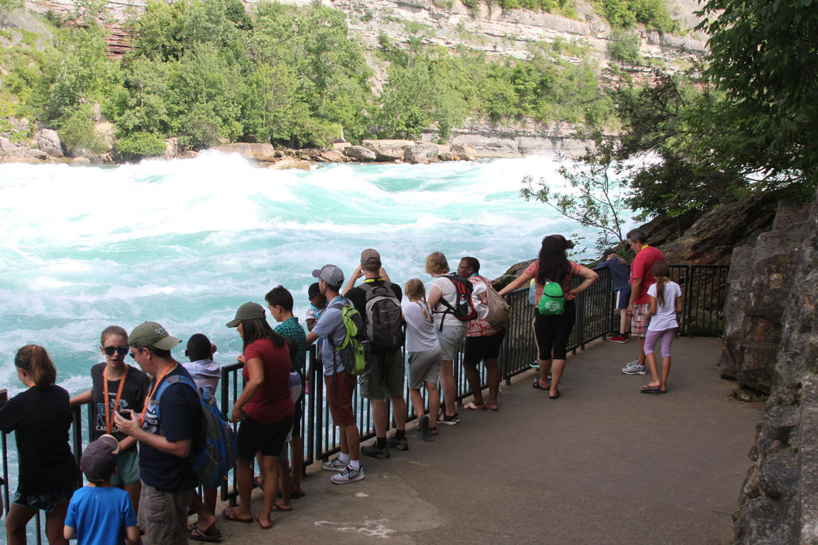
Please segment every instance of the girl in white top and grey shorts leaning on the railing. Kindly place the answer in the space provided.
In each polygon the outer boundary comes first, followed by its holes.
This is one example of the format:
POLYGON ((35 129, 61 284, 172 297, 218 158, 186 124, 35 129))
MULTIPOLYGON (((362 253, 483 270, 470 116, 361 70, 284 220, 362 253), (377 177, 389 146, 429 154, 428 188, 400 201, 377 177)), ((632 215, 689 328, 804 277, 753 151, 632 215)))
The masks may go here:
POLYGON ((426 304, 426 289, 419 279, 411 279, 403 288, 408 301, 403 303, 403 319, 407 322, 406 348, 409 353, 409 397, 412 408, 420 416, 420 436, 425 441, 434 441, 437 427, 429 426, 429 417, 424 414, 423 396, 420 388, 426 383, 429 394, 429 414, 440 410, 438 377, 440 375, 441 351, 438 337, 434 333, 434 318, 426 304))

